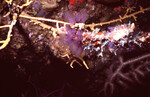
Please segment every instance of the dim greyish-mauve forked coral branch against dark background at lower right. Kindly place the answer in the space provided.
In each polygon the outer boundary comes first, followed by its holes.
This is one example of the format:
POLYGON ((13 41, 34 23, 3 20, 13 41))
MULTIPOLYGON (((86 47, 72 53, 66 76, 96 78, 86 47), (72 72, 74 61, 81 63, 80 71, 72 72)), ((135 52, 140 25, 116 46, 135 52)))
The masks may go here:
MULTIPOLYGON (((138 65, 138 64, 133 64, 134 62, 139 62, 145 58, 149 58, 150 54, 146 54, 143 55, 141 57, 123 62, 122 57, 119 58, 120 61, 120 65, 119 67, 117 67, 117 69, 115 71, 113 71, 114 65, 116 64, 112 64, 109 67, 109 74, 110 76, 108 77, 106 83, 104 84, 104 92, 106 93, 106 91, 108 91, 108 88, 110 87, 110 91, 111 93, 113 93, 112 91, 114 91, 114 88, 111 88, 112 85, 115 86, 115 83, 118 83, 119 85, 123 86, 124 88, 127 88, 127 82, 130 83, 134 83, 135 81, 137 81, 138 83, 141 83, 141 81, 138 78, 138 75, 141 77, 144 77, 145 72, 149 72, 149 62, 144 62, 144 64, 142 65, 138 65), (130 64, 130 65, 128 65, 130 64), (137 67, 135 67, 135 65, 138 65, 137 67), (127 72, 122 72, 123 68, 129 66, 129 71, 127 72), (144 71, 142 70, 142 68, 147 68, 144 71), (132 78, 131 78, 132 75, 132 78)), ((142 62, 142 61, 141 61, 142 62)))

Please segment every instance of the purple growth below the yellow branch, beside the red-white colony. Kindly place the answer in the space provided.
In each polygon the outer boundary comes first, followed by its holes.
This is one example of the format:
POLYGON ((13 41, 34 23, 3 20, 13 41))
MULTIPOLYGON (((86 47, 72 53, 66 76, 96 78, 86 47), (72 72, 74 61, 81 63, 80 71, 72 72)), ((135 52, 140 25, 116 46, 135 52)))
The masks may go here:
POLYGON ((75 55, 76 57, 81 56, 83 53, 83 47, 81 45, 83 31, 67 26, 66 32, 67 34, 65 34, 65 36, 61 36, 61 38, 63 38, 63 42, 60 41, 60 45, 64 45, 67 49, 70 50, 71 54, 75 55))

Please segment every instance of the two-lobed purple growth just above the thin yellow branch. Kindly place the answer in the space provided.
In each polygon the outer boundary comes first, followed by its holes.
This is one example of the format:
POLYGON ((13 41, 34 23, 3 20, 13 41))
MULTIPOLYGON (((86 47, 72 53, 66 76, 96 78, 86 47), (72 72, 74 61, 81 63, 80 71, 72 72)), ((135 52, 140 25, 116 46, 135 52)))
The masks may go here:
POLYGON ((88 19, 89 15, 87 14, 86 9, 80 10, 75 15, 73 15, 72 11, 64 11, 63 12, 63 20, 69 22, 71 24, 75 23, 84 23, 88 19))

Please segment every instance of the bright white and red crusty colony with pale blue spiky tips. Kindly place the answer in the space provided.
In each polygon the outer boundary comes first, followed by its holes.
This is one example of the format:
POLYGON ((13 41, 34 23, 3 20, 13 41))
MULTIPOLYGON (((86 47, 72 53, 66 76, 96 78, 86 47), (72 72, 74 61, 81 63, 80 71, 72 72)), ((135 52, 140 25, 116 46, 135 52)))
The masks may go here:
POLYGON ((90 50, 91 53, 100 51, 98 56, 103 56, 102 52, 105 47, 105 49, 116 54, 116 51, 123 48, 126 43, 137 43, 137 39, 132 38, 133 41, 128 38, 132 34, 131 32, 134 32, 134 23, 122 24, 108 29, 109 31, 99 32, 99 29, 95 29, 93 32, 84 32, 83 43, 86 45, 84 50, 90 50))

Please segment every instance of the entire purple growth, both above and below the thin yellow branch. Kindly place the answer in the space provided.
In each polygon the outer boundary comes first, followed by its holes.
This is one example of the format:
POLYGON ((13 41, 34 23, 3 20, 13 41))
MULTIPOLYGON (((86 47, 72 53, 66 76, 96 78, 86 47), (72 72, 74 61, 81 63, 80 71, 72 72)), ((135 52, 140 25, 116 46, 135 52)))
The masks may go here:
MULTIPOLYGON (((64 11, 62 16, 64 21, 69 22, 73 25, 75 23, 84 23, 88 19, 88 17, 89 15, 87 14, 86 9, 80 10, 80 12, 75 13, 75 15, 72 11, 64 11)), ((83 53, 83 46, 81 44, 81 41, 83 39, 83 31, 80 29, 73 29, 70 26, 67 26, 65 29, 67 33, 62 37, 64 41, 60 44, 67 46, 71 54, 75 55, 76 57, 81 56, 81 54, 83 53)))

